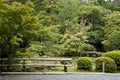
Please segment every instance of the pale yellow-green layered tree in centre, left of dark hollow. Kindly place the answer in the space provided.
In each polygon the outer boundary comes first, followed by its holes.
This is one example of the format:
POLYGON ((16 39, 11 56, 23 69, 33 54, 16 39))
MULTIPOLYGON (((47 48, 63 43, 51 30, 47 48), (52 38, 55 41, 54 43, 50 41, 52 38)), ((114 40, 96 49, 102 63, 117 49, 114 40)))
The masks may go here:
POLYGON ((68 34, 64 34, 61 39, 64 56, 80 56, 84 50, 94 49, 92 45, 88 44, 87 31, 89 30, 89 26, 85 26, 84 22, 75 26, 71 25, 67 30, 68 34))

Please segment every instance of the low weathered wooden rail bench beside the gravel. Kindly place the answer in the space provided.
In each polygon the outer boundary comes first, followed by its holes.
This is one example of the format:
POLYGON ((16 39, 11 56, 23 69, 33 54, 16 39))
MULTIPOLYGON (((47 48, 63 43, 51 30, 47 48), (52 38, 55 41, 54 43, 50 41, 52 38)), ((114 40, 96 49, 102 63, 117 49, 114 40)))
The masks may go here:
POLYGON ((0 67, 17 67, 22 66, 23 71, 26 71, 26 67, 64 67, 64 72, 67 72, 67 67, 72 66, 72 58, 0 58, 0 67), (4 61, 19 61, 20 63, 4 63, 4 61), (33 62, 34 61, 34 62, 33 62), (41 62, 40 62, 41 61, 41 62))

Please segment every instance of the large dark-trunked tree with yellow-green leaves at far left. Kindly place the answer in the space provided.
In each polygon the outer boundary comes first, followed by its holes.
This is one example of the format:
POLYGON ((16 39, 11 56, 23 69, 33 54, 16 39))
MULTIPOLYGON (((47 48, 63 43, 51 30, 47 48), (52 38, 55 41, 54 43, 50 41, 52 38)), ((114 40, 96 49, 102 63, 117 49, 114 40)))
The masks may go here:
POLYGON ((25 48, 34 33, 36 25, 35 16, 31 16, 33 4, 1 2, 0 7, 0 50, 1 57, 9 57, 17 50, 25 48), (32 30, 32 31, 31 31, 32 30))

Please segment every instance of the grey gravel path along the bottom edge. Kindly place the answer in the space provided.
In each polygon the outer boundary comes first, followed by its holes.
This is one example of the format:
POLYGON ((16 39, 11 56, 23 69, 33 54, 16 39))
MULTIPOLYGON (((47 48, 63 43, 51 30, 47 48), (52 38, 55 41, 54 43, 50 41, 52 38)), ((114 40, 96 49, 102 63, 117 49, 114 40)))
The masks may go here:
POLYGON ((77 73, 60 75, 2 75, 0 80, 120 80, 120 74, 77 73))

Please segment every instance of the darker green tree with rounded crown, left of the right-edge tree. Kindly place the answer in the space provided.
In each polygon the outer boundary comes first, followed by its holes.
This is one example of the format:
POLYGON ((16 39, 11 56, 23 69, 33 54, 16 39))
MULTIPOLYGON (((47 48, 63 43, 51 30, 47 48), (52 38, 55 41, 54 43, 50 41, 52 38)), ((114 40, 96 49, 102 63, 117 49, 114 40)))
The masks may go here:
POLYGON ((92 24, 89 29, 89 43, 94 45, 98 51, 103 51, 103 46, 101 44, 104 34, 102 29, 102 26, 104 25, 102 16, 105 14, 105 12, 106 10, 103 7, 93 4, 80 6, 79 11, 79 20, 86 20, 86 25, 89 23, 92 24))

